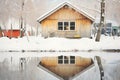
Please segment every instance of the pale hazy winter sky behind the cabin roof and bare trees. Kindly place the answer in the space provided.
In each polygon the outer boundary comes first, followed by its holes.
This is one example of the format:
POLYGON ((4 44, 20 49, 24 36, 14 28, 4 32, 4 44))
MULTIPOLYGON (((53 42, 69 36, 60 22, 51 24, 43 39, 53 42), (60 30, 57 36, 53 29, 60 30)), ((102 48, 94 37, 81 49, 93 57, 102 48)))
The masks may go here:
MULTIPOLYGON (((99 0, 25 0, 23 11, 22 0, 0 0, 0 25, 8 27, 13 23, 19 24, 22 14, 27 24, 32 27, 39 26, 37 18, 64 1, 69 1, 95 18, 99 18, 99 0), (10 24, 11 19, 13 21, 10 24)), ((119 10, 120 0, 106 0, 106 19, 116 21, 120 25, 119 10)))

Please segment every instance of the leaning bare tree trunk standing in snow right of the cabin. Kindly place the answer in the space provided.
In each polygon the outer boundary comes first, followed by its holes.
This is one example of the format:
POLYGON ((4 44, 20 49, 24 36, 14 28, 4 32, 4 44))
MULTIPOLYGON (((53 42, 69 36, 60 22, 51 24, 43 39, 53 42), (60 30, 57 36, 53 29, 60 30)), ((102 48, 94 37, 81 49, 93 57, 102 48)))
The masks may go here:
POLYGON ((101 36, 101 29, 104 27, 104 19, 105 19, 105 0, 101 0, 101 15, 100 15, 100 24, 98 27, 97 31, 97 36, 95 41, 99 42, 100 41, 100 36, 101 36))

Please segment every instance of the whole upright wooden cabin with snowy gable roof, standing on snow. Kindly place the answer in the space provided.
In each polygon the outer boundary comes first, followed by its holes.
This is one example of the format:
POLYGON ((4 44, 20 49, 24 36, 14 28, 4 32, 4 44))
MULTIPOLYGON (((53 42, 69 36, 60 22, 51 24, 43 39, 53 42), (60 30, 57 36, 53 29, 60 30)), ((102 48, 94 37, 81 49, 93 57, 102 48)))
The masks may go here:
POLYGON ((91 37, 93 21, 93 17, 68 2, 38 18, 43 37, 91 37))

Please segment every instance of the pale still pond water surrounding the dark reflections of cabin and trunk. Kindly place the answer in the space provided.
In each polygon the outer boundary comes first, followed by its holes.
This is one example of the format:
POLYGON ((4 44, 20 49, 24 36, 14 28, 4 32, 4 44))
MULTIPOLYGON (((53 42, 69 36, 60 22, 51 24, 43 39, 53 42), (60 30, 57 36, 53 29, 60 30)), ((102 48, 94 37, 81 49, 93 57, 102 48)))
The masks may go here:
MULTIPOLYGON (((105 72, 105 80, 120 80, 120 53, 106 52, 0 52, 0 80, 60 80, 44 70, 38 68, 38 64, 42 57, 72 55, 92 58, 100 56, 105 72), (21 63, 22 61, 22 63, 21 63)), ((71 80, 100 80, 98 67, 85 71, 80 75, 76 75, 71 80)))

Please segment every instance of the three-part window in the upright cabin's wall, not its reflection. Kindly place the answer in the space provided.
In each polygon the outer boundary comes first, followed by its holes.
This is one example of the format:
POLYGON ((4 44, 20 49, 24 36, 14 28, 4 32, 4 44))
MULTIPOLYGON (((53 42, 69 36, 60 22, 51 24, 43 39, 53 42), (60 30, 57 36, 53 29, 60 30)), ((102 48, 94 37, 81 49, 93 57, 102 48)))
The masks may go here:
POLYGON ((75 22, 58 22, 58 30, 75 30, 75 22))

